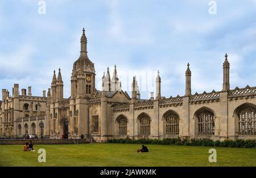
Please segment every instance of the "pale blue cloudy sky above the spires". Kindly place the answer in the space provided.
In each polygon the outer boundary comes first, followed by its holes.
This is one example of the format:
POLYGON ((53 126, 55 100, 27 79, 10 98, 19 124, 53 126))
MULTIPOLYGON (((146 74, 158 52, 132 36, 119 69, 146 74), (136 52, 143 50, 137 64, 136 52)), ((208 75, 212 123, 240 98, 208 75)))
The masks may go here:
POLYGON ((221 90, 225 53, 231 88, 256 86, 255 0, 216 1, 216 15, 209 14, 208 0, 46 0, 45 15, 38 14, 38 2, 0 0, 1 89, 11 92, 19 83, 42 96, 60 67, 69 97, 82 27, 97 89, 102 73, 109 66, 112 74, 116 64, 123 90, 130 91, 136 75, 142 98, 148 98, 159 69, 162 95, 183 96, 189 62, 192 93, 221 90))

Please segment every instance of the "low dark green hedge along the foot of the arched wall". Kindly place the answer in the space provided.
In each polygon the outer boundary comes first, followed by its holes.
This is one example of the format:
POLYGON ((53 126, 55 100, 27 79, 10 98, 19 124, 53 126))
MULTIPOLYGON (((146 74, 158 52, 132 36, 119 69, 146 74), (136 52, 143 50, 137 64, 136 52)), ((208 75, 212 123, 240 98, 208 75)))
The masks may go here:
POLYGON ((191 139, 181 140, 180 138, 160 139, 110 139, 108 143, 138 143, 138 144, 166 144, 166 145, 184 145, 184 146, 207 146, 207 147, 238 147, 238 148, 256 148, 256 140, 216 140, 211 139, 191 139))

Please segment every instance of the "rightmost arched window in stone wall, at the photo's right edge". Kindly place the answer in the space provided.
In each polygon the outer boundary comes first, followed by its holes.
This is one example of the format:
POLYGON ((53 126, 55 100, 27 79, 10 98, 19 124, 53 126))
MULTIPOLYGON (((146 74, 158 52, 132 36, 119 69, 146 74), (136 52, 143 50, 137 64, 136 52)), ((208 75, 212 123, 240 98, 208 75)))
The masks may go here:
POLYGON ((238 115, 238 134, 256 134, 256 109, 253 106, 245 105, 237 112, 238 115))

